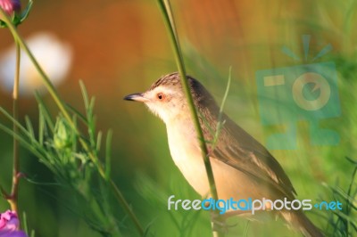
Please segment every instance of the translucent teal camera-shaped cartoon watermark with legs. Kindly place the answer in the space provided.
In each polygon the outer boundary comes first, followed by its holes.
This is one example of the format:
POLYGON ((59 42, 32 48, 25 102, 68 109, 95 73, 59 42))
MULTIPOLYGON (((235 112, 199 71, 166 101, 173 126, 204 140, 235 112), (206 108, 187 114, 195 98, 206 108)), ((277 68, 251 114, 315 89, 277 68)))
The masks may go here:
MULTIPOLYGON (((303 36, 305 61, 308 61, 309 44, 310 36, 303 36)), ((325 46, 312 62, 331 49, 331 45, 325 46)), ((295 61, 301 61, 287 47, 283 47, 282 51, 295 61)), ((295 149, 296 125, 299 120, 309 122, 312 145, 339 143, 336 131, 320 127, 322 119, 336 118, 341 114, 336 66, 333 61, 262 69, 255 76, 262 124, 284 125, 286 128, 285 133, 268 137, 269 149, 295 149)))

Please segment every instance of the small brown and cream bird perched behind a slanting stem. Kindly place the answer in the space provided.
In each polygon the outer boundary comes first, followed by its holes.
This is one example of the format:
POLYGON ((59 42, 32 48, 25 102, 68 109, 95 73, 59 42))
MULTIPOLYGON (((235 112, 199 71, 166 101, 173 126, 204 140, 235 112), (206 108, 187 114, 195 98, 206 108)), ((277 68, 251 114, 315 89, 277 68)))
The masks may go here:
MULTIPOLYGON (((198 80, 190 76, 186 78, 204 141, 214 141, 206 143, 206 146, 218 198, 295 200, 293 184, 270 151, 229 119, 228 115, 220 113, 212 94, 198 80)), ((206 197, 210 193, 210 185, 179 73, 162 76, 144 93, 129 94, 124 100, 144 102, 154 115, 162 119, 175 165, 188 184, 206 197)), ((300 209, 271 212, 285 219, 305 236, 324 236, 300 209)), ((237 210, 237 215, 249 217, 250 213, 237 210)))

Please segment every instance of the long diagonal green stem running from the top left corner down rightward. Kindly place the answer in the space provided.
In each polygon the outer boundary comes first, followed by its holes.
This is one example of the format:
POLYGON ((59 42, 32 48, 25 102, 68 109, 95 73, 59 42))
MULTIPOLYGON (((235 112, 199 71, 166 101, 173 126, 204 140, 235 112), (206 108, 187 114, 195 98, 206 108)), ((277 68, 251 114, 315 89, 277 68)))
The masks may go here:
MULTIPOLYGON (((37 72, 39 73, 40 77, 43 79, 43 82, 46 86, 48 93, 51 94, 52 98, 54 99, 54 102, 57 104, 59 110, 62 112, 63 117, 68 121, 71 128, 76 132, 77 135, 79 135, 79 143, 82 145, 83 149, 88 152, 88 155, 89 155, 90 159, 92 160, 92 162, 95 164, 96 168, 98 169, 100 176, 102 176, 105 180, 106 176, 105 176, 105 170, 104 170, 103 165, 96 158, 93 151, 90 150, 90 147, 88 146, 87 142, 83 138, 81 138, 79 129, 76 127, 74 121, 71 119, 70 113, 65 109, 65 104, 64 104, 64 102, 62 102, 61 97, 55 90, 54 85, 51 83, 50 79, 47 77, 45 71, 38 64, 34 55, 29 51, 28 45, 26 45, 24 40, 20 37, 19 33, 17 32, 16 27, 12 24, 12 21, 9 19, 9 17, 4 12, 4 10, 1 8, 0 8, 0 16, 6 23, 7 27, 10 29, 12 36, 15 38, 15 41, 18 42, 18 44, 21 46, 21 48, 24 50, 24 52, 28 54, 29 60, 32 61, 33 65, 37 69, 37 72)), ((115 193, 115 197, 117 198, 119 203, 122 205, 124 210, 127 211, 127 214, 131 218, 132 222, 136 225, 138 233, 143 235, 144 229, 141 227, 136 215, 133 213, 133 211, 129 207, 129 203, 127 202, 127 200, 124 199, 124 196, 120 192, 118 186, 112 180, 110 181, 110 184, 111 184, 112 190, 115 193)))

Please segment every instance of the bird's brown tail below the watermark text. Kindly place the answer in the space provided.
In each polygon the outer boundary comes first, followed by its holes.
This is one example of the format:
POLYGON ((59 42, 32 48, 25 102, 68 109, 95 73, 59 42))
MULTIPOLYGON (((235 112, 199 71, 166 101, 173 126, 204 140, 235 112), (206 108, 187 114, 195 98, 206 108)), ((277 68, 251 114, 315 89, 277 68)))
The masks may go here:
POLYGON ((287 223, 301 231, 305 236, 309 237, 323 237, 320 229, 312 224, 308 217, 302 211, 284 211, 281 216, 287 223))

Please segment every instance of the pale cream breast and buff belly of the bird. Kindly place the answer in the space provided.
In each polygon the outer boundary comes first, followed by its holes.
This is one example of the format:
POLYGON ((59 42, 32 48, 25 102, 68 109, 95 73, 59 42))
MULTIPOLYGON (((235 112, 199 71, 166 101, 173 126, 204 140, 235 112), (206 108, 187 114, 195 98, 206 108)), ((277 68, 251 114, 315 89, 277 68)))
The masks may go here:
MULTIPOLYGON (((170 153, 176 166, 185 176, 187 182, 201 196, 210 193, 203 156, 195 134, 195 127, 181 126, 180 124, 167 124, 170 153)), ((214 180, 220 199, 247 199, 262 198, 262 190, 249 176, 222 162, 210 158, 214 180)))

